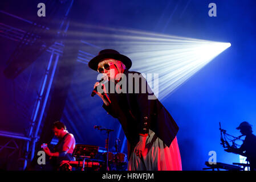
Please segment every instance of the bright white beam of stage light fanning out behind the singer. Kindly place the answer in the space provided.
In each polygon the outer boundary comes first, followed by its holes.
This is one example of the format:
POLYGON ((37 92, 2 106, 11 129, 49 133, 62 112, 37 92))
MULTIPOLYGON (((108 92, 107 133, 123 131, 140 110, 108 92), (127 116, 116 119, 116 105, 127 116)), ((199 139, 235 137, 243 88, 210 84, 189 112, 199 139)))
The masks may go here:
MULTIPOLYGON (((78 24, 79 26, 79 24, 78 24)), ((185 38, 153 32, 86 25, 81 38, 88 44, 116 49, 132 60, 130 70, 147 73, 160 100, 172 94, 196 72, 231 46, 230 43, 185 38), (154 85, 158 82, 158 85, 154 85)), ((74 32, 78 35, 78 32, 74 32)), ((94 46, 92 46, 94 47, 94 46)), ((88 50, 87 52, 90 52, 88 50)), ((90 53, 95 54, 95 47, 90 53)))

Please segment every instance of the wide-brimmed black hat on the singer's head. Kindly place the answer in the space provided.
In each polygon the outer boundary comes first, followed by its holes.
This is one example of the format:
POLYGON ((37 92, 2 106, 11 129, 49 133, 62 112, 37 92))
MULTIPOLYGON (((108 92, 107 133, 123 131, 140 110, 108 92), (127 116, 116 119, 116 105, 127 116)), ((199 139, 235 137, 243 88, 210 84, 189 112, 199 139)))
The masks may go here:
POLYGON ((100 63, 101 60, 103 59, 116 59, 124 63, 126 69, 129 69, 132 67, 132 61, 129 59, 129 57, 121 55, 119 52, 113 49, 103 49, 99 52, 97 56, 95 56, 93 59, 90 60, 88 63, 88 66, 91 69, 94 69, 97 71, 97 65, 100 63))

